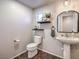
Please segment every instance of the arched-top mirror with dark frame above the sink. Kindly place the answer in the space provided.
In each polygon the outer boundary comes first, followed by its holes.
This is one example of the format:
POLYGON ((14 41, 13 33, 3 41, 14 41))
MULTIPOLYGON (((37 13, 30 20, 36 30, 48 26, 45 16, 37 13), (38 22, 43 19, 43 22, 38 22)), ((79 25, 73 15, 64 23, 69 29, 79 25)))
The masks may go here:
POLYGON ((57 31, 72 33, 79 32, 79 13, 76 11, 64 11, 57 16, 57 31))

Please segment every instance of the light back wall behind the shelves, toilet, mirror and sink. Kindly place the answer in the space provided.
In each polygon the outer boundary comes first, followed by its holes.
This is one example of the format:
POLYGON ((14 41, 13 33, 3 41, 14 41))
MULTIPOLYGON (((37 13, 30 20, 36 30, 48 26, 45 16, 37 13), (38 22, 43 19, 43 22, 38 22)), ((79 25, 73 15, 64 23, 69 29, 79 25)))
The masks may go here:
MULTIPOLYGON (((35 9, 35 18, 36 21, 34 20, 34 25, 37 25, 37 20, 38 19, 38 14, 44 14, 45 12, 52 12, 52 25, 55 26, 56 28, 56 19, 57 19, 57 15, 59 13, 61 13, 62 11, 67 11, 67 10, 75 10, 75 11, 78 11, 79 12, 79 0, 71 0, 69 2, 69 6, 65 6, 64 5, 64 0, 56 0, 54 3, 50 4, 50 5, 47 5, 47 6, 43 6, 43 7, 40 7, 40 8, 37 8, 35 9)), ((58 42, 57 40, 55 40, 54 38, 51 38, 50 37, 50 29, 49 31, 48 30, 45 30, 44 31, 45 33, 45 39, 43 40, 43 50, 46 50, 48 52, 51 52, 53 54, 56 54, 58 56, 63 56, 62 52, 62 44, 60 42, 58 42), (48 34, 49 33, 49 34, 48 34)), ((56 33, 58 34, 58 33, 56 33)), ((71 34, 69 34, 71 35, 71 34)), ((75 37, 79 37, 79 34, 76 33, 74 35, 75 37)), ((78 45, 72 45, 73 48, 71 48, 71 59, 79 59, 79 44, 78 45), (77 47, 77 48, 76 48, 77 47)))

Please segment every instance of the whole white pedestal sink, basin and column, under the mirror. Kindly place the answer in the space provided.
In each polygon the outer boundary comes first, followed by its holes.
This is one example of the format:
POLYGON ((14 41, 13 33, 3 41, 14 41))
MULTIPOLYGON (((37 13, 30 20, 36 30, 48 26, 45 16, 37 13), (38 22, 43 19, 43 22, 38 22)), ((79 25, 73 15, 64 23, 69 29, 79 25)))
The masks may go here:
POLYGON ((79 43, 79 38, 59 36, 56 37, 56 39, 64 44, 64 51, 63 51, 64 59, 70 59, 70 44, 79 43))

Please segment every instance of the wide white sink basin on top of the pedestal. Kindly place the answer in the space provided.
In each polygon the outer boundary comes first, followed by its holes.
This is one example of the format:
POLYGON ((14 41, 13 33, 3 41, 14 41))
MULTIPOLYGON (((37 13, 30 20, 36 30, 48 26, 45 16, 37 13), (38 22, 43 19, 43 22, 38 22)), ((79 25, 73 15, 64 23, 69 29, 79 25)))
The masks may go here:
POLYGON ((57 40, 59 40, 62 43, 66 43, 66 44, 77 44, 79 43, 79 38, 75 38, 75 37, 56 37, 57 40))

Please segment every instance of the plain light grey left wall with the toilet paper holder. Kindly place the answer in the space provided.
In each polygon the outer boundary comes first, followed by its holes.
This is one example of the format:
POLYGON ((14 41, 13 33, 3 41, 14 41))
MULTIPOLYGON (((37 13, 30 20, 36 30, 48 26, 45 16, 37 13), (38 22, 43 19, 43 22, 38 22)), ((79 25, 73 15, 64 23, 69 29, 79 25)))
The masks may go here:
POLYGON ((32 10, 16 1, 0 1, 0 59, 26 50, 32 37, 32 10), (14 43, 14 40, 20 42, 14 43))

